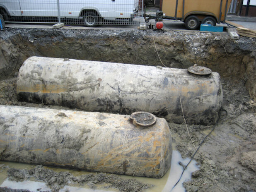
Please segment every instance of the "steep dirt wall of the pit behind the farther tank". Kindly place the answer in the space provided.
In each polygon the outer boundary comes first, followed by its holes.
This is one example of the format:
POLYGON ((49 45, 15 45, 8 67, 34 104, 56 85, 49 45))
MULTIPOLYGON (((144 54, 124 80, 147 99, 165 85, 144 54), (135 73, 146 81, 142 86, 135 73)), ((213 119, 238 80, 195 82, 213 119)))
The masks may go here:
POLYGON ((6 29, 0 31, 0 80, 16 77, 30 56, 187 68, 197 63, 244 81, 256 99, 256 40, 227 33, 139 30, 6 29), (154 40, 153 40, 154 38, 154 40))

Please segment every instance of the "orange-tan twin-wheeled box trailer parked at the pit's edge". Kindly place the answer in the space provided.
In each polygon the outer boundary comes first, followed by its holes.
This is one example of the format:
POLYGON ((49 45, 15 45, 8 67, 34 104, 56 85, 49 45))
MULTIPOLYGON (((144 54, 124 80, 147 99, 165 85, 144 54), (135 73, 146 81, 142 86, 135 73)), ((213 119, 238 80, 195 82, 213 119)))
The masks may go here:
POLYGON ((198 29, 200 23, 225 23, 232 0, 161 0, 164 19, 181 20, 187 29, 198 29))

